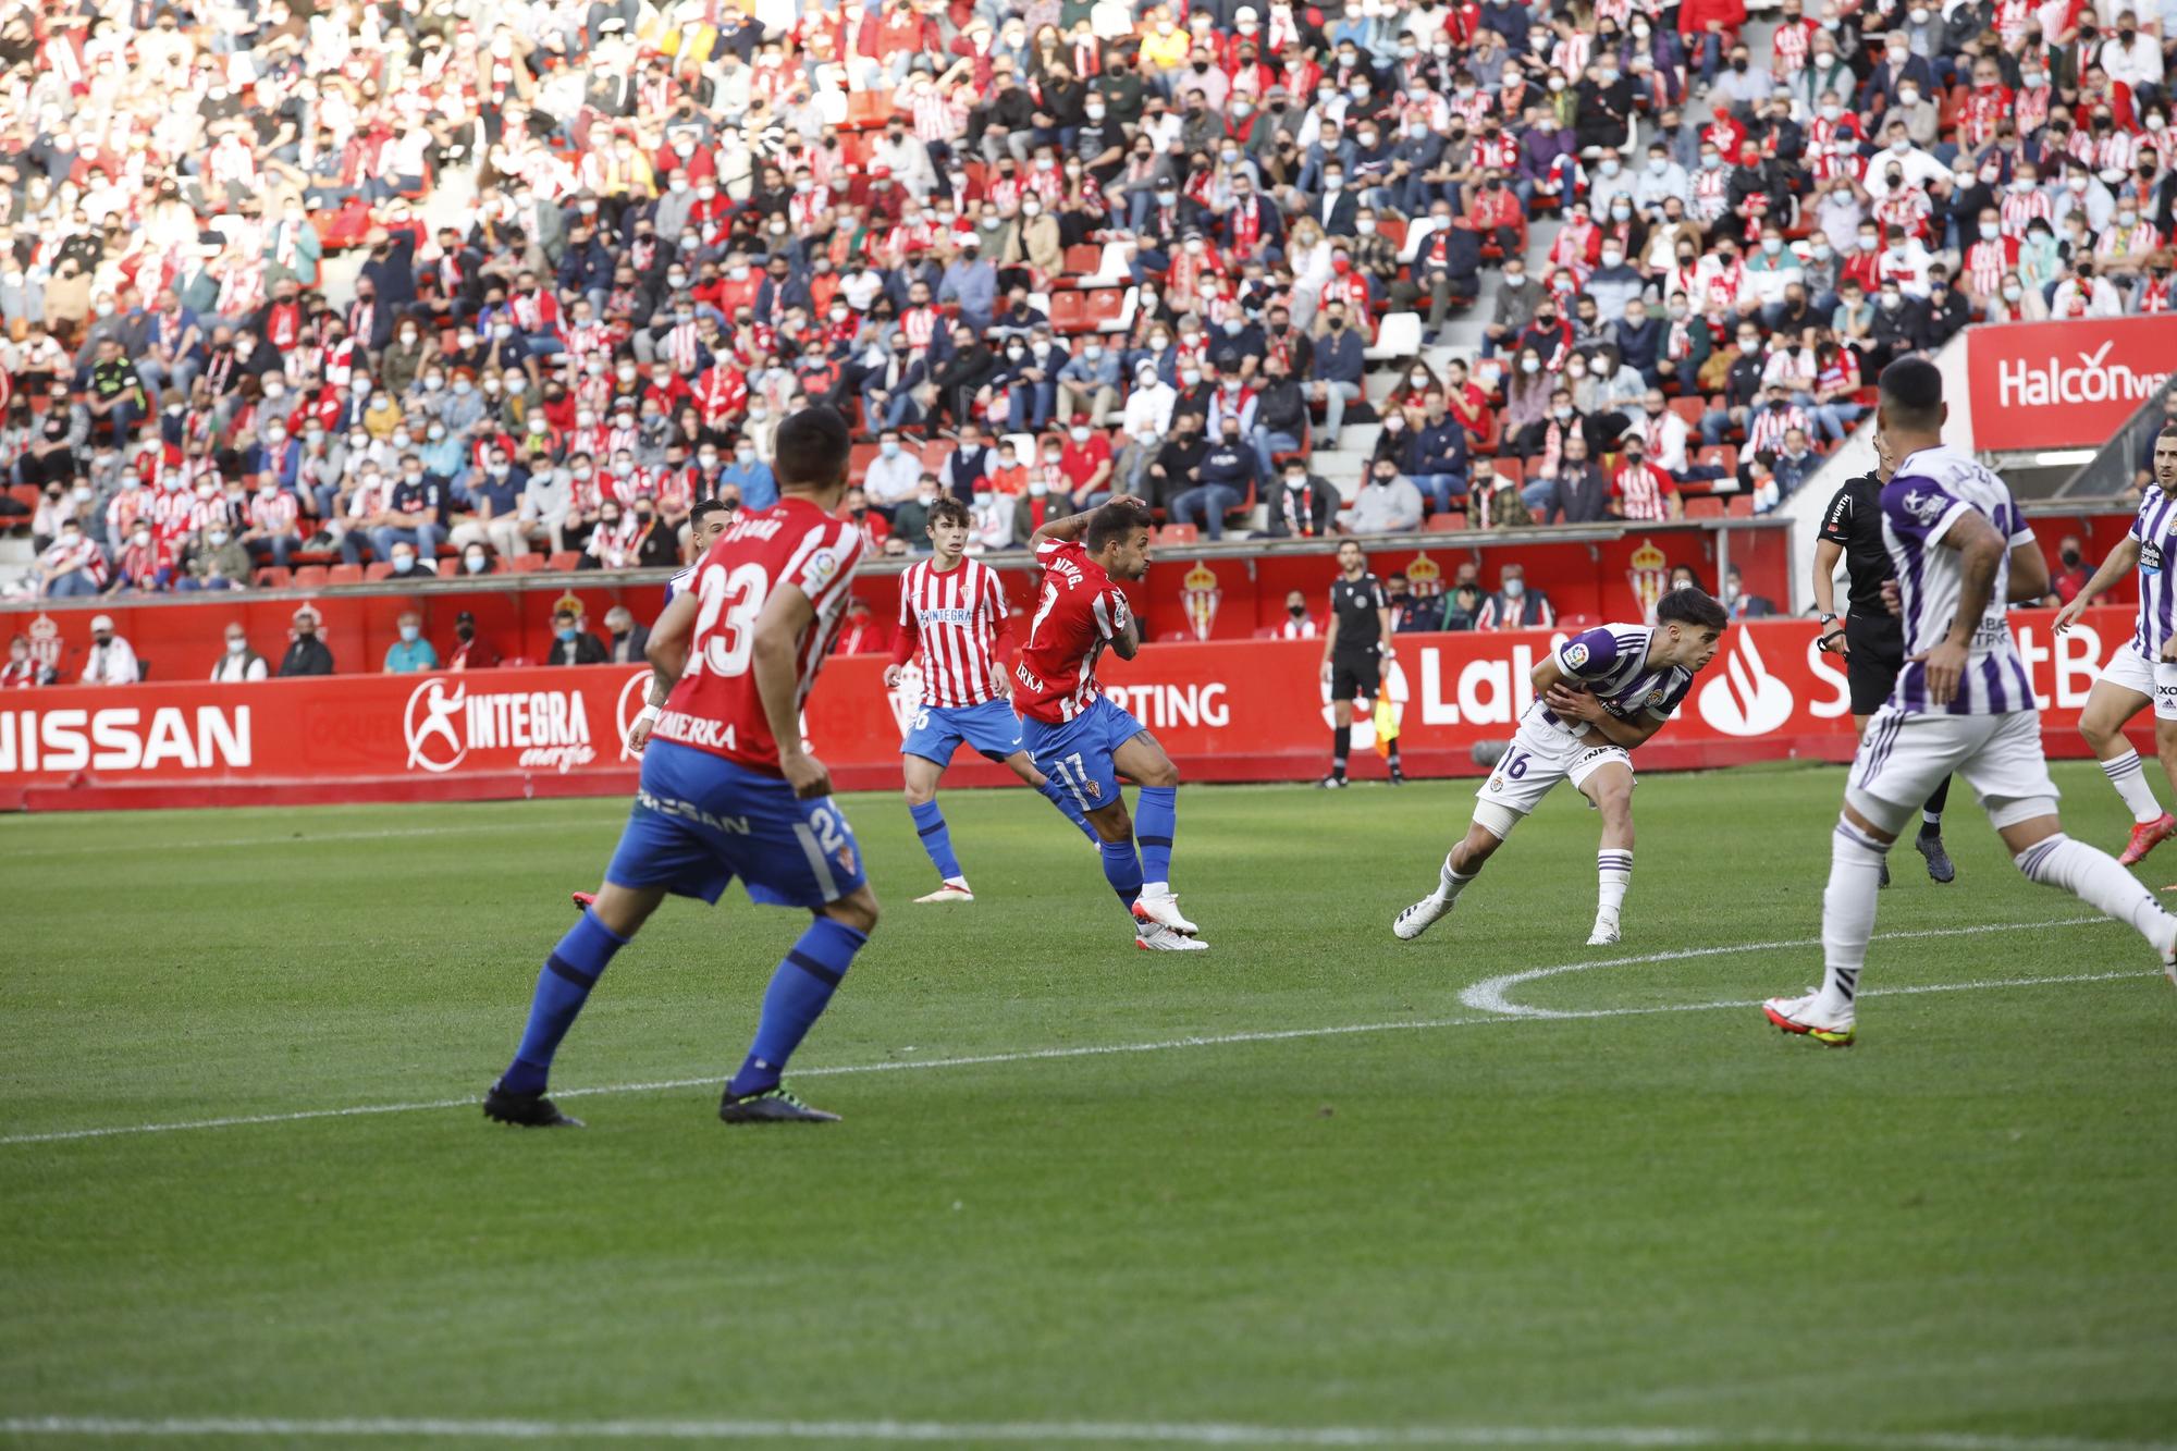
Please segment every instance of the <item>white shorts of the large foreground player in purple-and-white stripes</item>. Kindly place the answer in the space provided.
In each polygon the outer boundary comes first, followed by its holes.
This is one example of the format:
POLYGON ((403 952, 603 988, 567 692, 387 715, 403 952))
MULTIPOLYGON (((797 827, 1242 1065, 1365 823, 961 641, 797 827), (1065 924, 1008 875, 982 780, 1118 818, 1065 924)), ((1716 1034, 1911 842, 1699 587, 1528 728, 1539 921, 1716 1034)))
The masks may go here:
POLYGON ((1859 739, 1850 789, 1918 808, 1951 773, 1966 778, 1990 815, 2012 802, 2062 795, 2042 756, 2040 710, 1924 715, 1883 706, 1859 739))

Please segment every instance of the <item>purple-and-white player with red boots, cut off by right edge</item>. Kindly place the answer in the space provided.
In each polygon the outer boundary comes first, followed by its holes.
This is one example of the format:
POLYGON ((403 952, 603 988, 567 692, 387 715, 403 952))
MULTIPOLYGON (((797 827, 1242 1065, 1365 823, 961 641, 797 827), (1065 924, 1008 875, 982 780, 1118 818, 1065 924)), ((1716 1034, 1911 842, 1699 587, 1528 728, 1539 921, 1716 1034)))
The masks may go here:
POLYGON ((2094 747, 2101 773, 2131 808, 2131 841, 2120 861, 2131 865, 2177 837, 2177 817, 2162 810, 2147 782, 2140 754, 2125 741, 2125 723, 2147 706, 2155 708, 2155 754, 2177 791, 2177 423, 2155 438, 2155 488, 2140 499, 2140 514, 2079 597, 2055 617, 2055 632, 2079 623, 2118 580, 2140 571, 2140 623, 2127 645, 2118 645, 2101 667, 2094 691, 2079 712, 2079 734, 2094 747))

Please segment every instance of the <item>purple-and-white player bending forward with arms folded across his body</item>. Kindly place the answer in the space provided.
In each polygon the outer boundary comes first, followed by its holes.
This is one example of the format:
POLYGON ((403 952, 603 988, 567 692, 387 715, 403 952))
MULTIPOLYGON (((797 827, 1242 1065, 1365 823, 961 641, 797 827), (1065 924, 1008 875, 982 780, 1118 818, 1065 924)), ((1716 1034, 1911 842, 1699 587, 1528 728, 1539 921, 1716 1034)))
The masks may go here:
POLYGON ((1729 617, 1698 588, 1655 606, 1655 625, 1602 625, 1576 634, 1535 667, 1535 702, 1496 771, 1476 793, 1474 824, 1437 874, 1437 889, 1402 911, 1391 932, 1411 941, 1452 911, 1511 828, 1561 780, 1602 813, 1596 852, 1596 926, 1589 946, 1618 941, 1618 913, 1633 885, 1633 756, 1663 728, 1715 658, 1729 617))

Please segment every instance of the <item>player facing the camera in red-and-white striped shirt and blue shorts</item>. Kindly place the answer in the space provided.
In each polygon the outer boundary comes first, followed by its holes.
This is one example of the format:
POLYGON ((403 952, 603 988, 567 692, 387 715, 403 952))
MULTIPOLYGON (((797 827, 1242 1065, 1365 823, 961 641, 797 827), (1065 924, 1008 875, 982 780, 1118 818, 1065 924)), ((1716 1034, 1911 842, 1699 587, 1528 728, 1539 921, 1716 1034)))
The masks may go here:
POLYGON ((1021 719, 1012 715, 1006 586, 995 569, 967 558, 971 523, 958 499, 930 505, 932 556, 899 575, 899 636, 893 641, 893 662, 884 667, 884 684, 895 691, 901 688, 910 660, 921 667, 923 697, 899 743, 908 815, 938 869, 938 889, 914 898, 919 904, 975 900, 936 800, 938 778, 962 741, 991 760, 1004 760, 1095 841, 1095 828, 1080 804, 1047 780, 1021 747, 1021 719))

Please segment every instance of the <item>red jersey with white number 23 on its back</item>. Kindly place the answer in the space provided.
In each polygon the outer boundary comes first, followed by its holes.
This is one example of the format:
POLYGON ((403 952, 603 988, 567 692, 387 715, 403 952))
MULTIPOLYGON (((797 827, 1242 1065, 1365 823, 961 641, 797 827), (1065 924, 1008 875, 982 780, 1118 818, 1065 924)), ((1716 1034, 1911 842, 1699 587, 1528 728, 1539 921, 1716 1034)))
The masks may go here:
POLYGON ((753 771, 779 769, 779 743, 755 688, 755 621, 779 586, 801 590, 816 619, 795 649, 795 708, 808 699, 847 612, 862 532, 808 499, 745 510, 694 566, 688 669, 657 717, 657 739, 692 745, 753 771))

